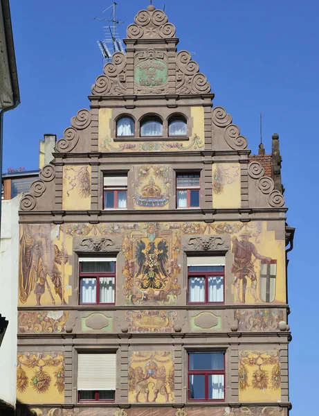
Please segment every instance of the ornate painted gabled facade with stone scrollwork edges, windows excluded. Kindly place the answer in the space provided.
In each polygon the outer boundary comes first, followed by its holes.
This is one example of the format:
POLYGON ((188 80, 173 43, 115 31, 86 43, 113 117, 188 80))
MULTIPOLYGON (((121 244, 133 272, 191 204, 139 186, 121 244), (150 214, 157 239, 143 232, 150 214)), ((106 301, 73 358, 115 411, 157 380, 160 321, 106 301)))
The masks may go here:
POLYGON ((138 12, 126 54, 105 65, 90 110, 71 119, 21 199, 17 391, 34 415, 289 413, 293 229, 280 169, 265 175, 178 42, 162 10, 138 12), (145 116, 161 134, 142 134, 145 116), (129 134, 117 134, 121 117, 129 134), (181 119, 185 131, 172 134, 181 119), (194 173, 199 205, 178 207, 177 178, 194 173), (107 206, 110 177, 126 205, 107 206), (82 302, 82 257, 116 259, 113 302, 82 302), (219 302, 190 302, 189 257, 224 259, 219 302), (79 403, 77 356, 92 351, 116 352, 111 403, 79 403), (193 351, 223 352, 224 399, 190 399, 193 351))

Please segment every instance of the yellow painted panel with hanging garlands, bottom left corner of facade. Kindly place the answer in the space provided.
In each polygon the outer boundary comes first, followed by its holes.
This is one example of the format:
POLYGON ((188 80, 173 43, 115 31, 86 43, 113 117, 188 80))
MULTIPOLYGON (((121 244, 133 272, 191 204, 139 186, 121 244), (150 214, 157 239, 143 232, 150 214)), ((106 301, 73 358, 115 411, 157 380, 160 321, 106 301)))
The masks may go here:
POLYGON ((64 403, 64 354, 19 353, 17 399, 26 404, 64 403))

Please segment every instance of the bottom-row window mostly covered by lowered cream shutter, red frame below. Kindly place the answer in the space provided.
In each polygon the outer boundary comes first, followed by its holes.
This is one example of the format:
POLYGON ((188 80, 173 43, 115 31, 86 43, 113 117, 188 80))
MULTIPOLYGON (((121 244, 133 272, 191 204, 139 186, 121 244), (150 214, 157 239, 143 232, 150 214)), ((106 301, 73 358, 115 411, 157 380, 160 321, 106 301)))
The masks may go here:
POLYGON ((78 354, 78 401, 114 401, 116 353, 78 354))

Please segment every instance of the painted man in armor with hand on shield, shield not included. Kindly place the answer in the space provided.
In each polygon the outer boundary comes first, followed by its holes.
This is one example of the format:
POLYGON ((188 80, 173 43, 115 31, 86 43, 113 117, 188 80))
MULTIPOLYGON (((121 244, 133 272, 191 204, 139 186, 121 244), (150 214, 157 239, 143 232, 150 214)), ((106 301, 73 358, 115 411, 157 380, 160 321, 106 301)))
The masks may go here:
POLYGON ((249 241, 250 233, 243 232, 239 235, 241 237, 241 241, 237 239, 237 237, 233 236, 233 254, 234 254, 234 263, 232 266, 232 272, 234 273, 236 279, 234 282, 235 286, 235 302, 237 304, 244 304, 245 303, 245 295, 246 295, 246 286, 247 286, 247 279, 248 277, 251 281, 250 284, 250 293, 253 296, 255 303, 259 303, 259 299, 257 296, 257 275, 255 272, 254 263, 256 259, 263 260, 265 263, 271 263, 271 257, 262 256, 257 252, 257 248, 255 245, 249 241), (252 259, 252 255, 254 255, 255 260, 252 259), (242 281, 242 300, 240 299, 240 281, 242 281))

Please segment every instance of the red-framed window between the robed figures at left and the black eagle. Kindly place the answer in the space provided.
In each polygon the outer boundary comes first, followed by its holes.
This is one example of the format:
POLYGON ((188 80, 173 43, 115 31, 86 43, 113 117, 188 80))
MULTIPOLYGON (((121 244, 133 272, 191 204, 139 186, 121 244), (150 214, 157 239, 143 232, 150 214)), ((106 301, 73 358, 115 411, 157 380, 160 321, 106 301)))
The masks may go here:
POLYGON ((116 258, 79 259, 80 304, 115 304, 116 258))

